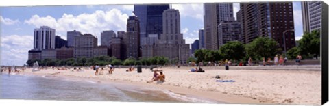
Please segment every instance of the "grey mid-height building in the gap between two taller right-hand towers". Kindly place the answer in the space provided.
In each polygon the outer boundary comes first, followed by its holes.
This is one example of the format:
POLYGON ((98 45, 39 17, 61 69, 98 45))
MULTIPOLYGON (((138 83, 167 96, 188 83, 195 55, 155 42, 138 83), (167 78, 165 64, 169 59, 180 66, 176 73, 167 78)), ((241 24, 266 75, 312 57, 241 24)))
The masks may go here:
POLYGON ((230 41, 239 41, 241 36, 241 23, 235 21, 234 17, 228 21, 221 21, 218 25, 219 48, 230 41))

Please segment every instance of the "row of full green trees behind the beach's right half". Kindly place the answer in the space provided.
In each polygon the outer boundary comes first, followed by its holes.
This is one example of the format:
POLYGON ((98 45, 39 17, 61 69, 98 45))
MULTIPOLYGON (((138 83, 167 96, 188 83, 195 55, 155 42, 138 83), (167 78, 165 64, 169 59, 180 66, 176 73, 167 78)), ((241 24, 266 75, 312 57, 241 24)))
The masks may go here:
MULTIPOLYGON (((297 55, 302 55, 304 58, 319 57, 319 31, 304 34, 297 43, 297 47, 287 51, 288 59, 295 59, 297 55)), ((263 57, 273 59, 275 55, 284 56, 278 42, 268 37, 259 37, 249 44, 243 44, 239 41, 228 42, 221 46, 218 51, 199 49, 194 53, 195 58, 191 57, 188 62, 215 62, 226 59, 247 62, 249 57, 256 61, 263 61, 263 57)))

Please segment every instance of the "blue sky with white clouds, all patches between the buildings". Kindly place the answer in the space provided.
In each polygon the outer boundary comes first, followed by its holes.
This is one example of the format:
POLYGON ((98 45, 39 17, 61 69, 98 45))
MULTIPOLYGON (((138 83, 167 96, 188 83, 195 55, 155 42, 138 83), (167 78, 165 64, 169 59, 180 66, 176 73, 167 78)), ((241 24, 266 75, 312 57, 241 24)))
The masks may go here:
MULTIPOLYGON (((172 4, 180 11, 181 32, 186 43, 199 38, 204 28, 202 3, 172 4)), ((23 65, 33 49, 34 29, 49 26, 66 40, 67 31, 81 31, 98 36, 103 30, 125 31, 134 5, 65 5, 0 7, 1 65, 23 65)), ((234 3, 234 17, 239 3, 234 3)), ((299 1, 293 1, 295 39, 302 38, 302 12, 299 1)))

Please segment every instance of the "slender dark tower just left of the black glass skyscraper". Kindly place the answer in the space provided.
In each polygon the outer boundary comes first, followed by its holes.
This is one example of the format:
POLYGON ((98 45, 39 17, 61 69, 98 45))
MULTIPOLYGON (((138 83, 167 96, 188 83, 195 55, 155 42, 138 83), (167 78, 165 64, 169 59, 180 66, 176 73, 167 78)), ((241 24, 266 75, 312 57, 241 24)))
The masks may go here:
POLYGON ((137 16, 129 16, 127 21, 127 58, 138 59, 141 57, 139 20, 137 16))

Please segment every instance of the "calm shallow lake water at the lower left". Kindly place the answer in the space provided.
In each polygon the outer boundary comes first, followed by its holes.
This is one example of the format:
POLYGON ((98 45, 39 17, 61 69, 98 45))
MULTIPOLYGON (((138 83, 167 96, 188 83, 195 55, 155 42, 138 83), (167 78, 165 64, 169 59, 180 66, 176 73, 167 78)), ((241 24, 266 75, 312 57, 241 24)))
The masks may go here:
POLYGON ((2 99, 218 103, 158 88, 56 76, 0 75, 2 99))

